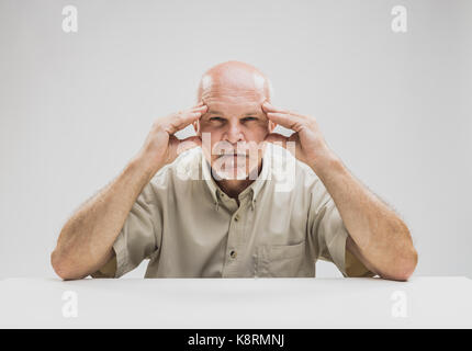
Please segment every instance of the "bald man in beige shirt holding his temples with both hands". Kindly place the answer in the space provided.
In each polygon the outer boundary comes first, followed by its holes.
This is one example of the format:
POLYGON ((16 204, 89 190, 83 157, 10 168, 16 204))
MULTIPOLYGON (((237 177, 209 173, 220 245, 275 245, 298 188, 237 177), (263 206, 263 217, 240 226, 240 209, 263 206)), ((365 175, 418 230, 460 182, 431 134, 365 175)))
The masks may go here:
POLYGON ((350 174, 314 117, 273 106, 270 93, 247 64, 206 71, 199 103, 158 118, 66 223, 57 274, 119 278, 149 259, 146 278, 315 276, 323 259, 345 276, 407 280, 417 253, 406 225, 350 174), (178 139, 190 124, 196 135, 178 139))

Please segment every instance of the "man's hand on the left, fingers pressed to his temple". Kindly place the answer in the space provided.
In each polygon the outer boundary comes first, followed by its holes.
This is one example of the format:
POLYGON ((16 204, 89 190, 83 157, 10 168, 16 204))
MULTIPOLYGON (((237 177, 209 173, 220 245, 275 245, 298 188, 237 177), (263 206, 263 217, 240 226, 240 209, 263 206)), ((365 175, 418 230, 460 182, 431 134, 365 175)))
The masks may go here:
POLYGON ((145 160, 153 174, 161 167, 173 162, 181 152, 202 145, 198 136, 179 139, 175 134, 199 120, 207 110, 200 102, 195 106, 158 118, 146 138, 138 158, 145 160))

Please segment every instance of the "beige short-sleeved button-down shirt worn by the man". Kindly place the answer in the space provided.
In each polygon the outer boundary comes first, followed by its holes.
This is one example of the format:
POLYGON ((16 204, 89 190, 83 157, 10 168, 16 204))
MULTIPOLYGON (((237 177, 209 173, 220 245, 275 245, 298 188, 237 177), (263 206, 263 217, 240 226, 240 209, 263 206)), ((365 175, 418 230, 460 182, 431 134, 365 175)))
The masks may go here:
POLYGON ((315 172, 268 146, 239 206, 211 177, 202 149, 179 156, 143 189, 115 257, 93 278, 120 278, 149 259, 145 278, 315 276, 318 259, 344 276, 373 276, 346 250, 348 231, 315 172))

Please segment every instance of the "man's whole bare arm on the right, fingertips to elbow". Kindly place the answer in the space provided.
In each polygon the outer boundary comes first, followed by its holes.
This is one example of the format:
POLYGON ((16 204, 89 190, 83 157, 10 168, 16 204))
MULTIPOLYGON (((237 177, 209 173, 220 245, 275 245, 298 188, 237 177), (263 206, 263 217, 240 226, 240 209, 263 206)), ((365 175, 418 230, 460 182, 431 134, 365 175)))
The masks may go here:
POLYGON ((417 252, 408 228, 386 204, 371 193, 328 148, 314 117, 262 105, 268 118, 294 131, 290 137, 269 134, 308 165, 336 203, 349 233, 346 246, 368 269, 384 279, 407 280, 416 268, 417 252))

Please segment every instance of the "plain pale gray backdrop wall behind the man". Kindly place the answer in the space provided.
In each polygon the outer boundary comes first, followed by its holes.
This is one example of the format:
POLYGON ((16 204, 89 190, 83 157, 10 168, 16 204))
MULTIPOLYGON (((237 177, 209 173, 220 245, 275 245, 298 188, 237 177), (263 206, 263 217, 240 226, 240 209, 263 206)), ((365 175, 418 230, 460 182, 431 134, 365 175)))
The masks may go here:
POLYGON ((470 1, 0 0, 0 278, 53 276, 67 218, 228 59, 265 71, 274 104, 316 116, 400 212, 416 275, 472 278, 471 20, 470 1), (66 4, 78 33, 61 30, 66 4))

